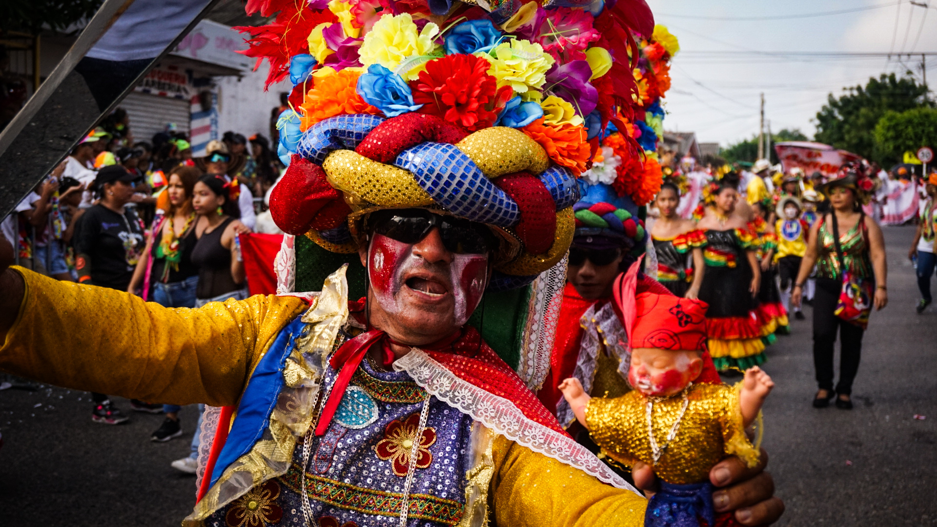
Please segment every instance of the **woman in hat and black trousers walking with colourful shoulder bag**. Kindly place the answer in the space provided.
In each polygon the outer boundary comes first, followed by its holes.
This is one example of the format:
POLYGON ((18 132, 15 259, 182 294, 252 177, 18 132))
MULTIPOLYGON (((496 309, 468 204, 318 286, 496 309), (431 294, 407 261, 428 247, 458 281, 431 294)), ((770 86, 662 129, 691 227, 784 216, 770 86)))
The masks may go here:
POLYGON ((834 232, 840 233, 839 245, 842 264, 858 279, 873 280, 872 299, 875 309, 888 303, 885 239, 875 220, 862 212, 861 203, 868 201, 860 173, 846 172, 826 183, 821 191, 829 197, 830 213, 821 217, 811 228, 807 254, 800 263, 791 300, 800 306, 804 282, 811 274, 813 264, 817 270, 817 289, 813 298, 813 363, 819 386, 813 406, 824 408, 836 398, 837 408, 853 407, 850 397, 853 380, 859 368, 862 335, 865 327, 840 319, 835 311, 839 303, 843 272, 834 232), (837 330, 840 333, 840 382, 833 388, 833 344, 837 330), (838 397, 837 397, 838 396, 838 397))

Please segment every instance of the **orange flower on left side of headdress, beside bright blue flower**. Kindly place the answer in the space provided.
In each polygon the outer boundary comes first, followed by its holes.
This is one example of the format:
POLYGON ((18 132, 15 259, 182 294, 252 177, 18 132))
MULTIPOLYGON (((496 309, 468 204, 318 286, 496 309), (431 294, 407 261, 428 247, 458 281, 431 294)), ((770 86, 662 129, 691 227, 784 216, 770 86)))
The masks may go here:
POLYGON ((360 71, 342 69, 332 75, 316 79, 312 89, 306 92, 303 104, 300 105, 303 113, 300 117, 300 130, 305 131, 312 125, 335 115, 380 113, 377 108, 364 102, 364 99, 358 95, 356 88, 359 76, 361 76, 360 71))

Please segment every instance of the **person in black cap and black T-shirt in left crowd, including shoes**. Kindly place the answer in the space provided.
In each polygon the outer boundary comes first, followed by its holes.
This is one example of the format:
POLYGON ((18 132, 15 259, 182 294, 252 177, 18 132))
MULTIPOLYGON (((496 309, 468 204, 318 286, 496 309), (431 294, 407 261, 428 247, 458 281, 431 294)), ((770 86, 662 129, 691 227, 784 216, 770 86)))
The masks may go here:
MULTIPOLYGON (((120 165, 102 168, 92 189, 99 201, 88 208, 75 225, 75 269, 78 281, 126 291, 140 260, 143 225, 133 209, 124 205, 133 196, 137 176, 120 165)), ((91 394, 95 401, 91 418, 97 423, 116 425, 127 416, 114 408, 104 394, 91 394)), ((134 409, 149 412, 151 405, 131 401, 134 409)))

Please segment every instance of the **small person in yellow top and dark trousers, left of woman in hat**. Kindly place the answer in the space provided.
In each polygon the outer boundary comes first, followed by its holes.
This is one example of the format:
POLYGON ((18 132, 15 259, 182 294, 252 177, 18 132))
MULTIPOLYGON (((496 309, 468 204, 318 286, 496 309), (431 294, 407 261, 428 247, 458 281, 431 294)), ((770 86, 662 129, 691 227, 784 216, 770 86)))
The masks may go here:
MULTIPOLYGON (((810 224, 802 218, 801 209, 803 205, 796 196, 781 196, 776 209, 778 221, 774 231, 778 236, 778 250, 774 254, 774 262, 778 265, 781 278, 781 302, 787 311, 791 309, 791 290, 794 289, 800 270, 800 261, 807 253, 807 234, 811 229, 810 224)), ((804 320, 804 313, 799 306, 794 307, 794 318, 804 320)))

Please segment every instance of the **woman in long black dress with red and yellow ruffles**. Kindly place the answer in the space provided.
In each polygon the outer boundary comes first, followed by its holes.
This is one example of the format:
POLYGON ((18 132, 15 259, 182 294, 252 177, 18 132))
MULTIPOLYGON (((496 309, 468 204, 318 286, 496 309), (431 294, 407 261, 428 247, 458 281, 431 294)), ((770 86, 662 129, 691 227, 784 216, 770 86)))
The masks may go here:
POLYGON ((756 309, 761 289, 758 237, 740 214, 738 176, 727 173, 709 184, 706 212, 697 227, 706 233, 705 276, 699 299, 706 311, 707 346, 716 368, 744 371, 765 362, 765 342, 756 309))

